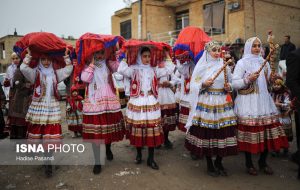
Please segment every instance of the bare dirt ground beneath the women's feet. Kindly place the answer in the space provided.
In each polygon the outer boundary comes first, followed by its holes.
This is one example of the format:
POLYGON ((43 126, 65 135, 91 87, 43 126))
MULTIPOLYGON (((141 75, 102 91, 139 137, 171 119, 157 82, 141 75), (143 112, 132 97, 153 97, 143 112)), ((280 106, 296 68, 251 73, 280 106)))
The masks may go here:
MULTIPOLYGON (((64 105, 62 110, 64 110, 64 105)), ((72 138, 63 123, 65 138, 72 138)), ((163 190, 299 190, 300 180, 296 178, 297 166, 288 158, 268 158, 275 171, 273 176, 259 173, 249 176, 244 166, 244 154, 227 157, 224 166, 229 172, 227 177, 210 177, 206 174, 206 160, 191 160, 184 148, 185 134, 180 131, 170 133, 174 144, 172 150, 155 150, 155 159, 160 166, 158 171, 146 165, 147 152, 143 151, 143 163, 134 164, 135 149, 128 141, 114 143, 114 160, 106 162, 100 175, 92 173, 93 166, 59 166, 52 178, 46 178, 42 166, 0 166, 0 190, 47 190, 47 189, 163 189, 163 190)), ((295 143, 290 151, 295 150, 295 143)), ((1 152, 1 154, 3 154, 1 152)), ((258 157, 253 158, 257 163, 258 157)), ((257 167, 257 165, 256 165, 257 167)))

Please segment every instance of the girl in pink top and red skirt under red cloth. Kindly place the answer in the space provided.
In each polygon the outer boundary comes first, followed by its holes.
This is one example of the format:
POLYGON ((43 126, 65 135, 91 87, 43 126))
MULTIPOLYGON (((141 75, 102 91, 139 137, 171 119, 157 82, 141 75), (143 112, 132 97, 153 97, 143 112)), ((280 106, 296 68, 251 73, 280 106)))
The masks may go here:
MULTIPOLYGON (((81 73, 81 80, 88 83, 83 103, 82 137, 85 140, 101 141, 106 145, 106 159, 113 160, 111 143, 121 141, 125 127, 121 105, 113 86, 112 73, 118 68, 114 61, 107 61, 105 49, 94 52, 89 66, 81 73)), ((92 143, 95 165, 94 174, 101 172, 100 144, 92 143)))

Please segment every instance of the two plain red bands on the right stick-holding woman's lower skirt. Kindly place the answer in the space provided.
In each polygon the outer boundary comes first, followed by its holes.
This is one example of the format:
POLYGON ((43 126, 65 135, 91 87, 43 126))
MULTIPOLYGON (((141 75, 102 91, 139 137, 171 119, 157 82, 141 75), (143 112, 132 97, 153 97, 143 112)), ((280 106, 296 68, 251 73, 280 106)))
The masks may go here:
MULTIPOLYGON (((280 123, 274 123, 271 125, 265 125, 265 126, 246 126, 246 125, 238 125, 238 131, 241 132, 251 132, 251 133, 258 133, 261 131, 271 130, 273 128, 280 127, 280 123)), ((265 133, 265 132, 264 132, 265 133)), ((257 142, 257 143, 250 143, 246 141, 242 141, 238 138, 238 149, 239 151, 245 151, 250 152, 252 154, 257 154, 260 152, 264 152, 265 149, 268 151, 280 151, 281 148, 288 148, 289 143, 286 136, 280 136, 280 134, 277 134, 278 136, 272 139, 266 139, 264 138, 264 142, 257 142)))

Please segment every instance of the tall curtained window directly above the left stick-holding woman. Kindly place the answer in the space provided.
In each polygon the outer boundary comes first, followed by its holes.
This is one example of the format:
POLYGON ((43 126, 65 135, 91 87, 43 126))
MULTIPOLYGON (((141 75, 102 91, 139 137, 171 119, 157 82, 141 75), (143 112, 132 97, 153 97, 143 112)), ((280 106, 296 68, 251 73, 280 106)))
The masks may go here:
POLYGON ((203 28, 207 34, 225 33, 225 2, 224 0, 203 6, 203 28))

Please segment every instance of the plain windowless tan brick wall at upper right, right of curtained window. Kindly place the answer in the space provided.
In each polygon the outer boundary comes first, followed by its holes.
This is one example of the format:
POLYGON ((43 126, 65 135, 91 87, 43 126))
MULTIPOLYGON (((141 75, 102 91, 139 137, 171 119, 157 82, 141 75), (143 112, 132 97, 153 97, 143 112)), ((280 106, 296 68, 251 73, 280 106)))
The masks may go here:
POLYGON ((246 38, 258 36, 266 43, 266 33, 272 29, 276 43, 282 44, 284 35, 289 34, 291 41, 300 47, 299 0, 255 0, 254 6, 252 1, 245 1, 245 22, 246 38))

